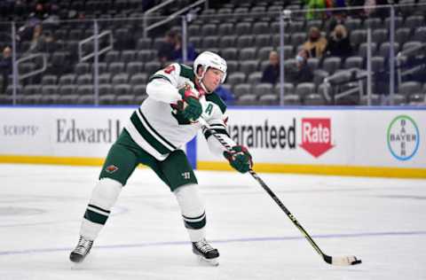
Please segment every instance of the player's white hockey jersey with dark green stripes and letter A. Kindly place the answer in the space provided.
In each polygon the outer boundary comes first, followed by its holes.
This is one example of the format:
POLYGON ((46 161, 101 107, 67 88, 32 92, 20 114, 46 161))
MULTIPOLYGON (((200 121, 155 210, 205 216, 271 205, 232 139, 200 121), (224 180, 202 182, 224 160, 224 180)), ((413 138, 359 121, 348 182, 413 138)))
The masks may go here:
MULTIPOLYGON (((201 128, 199 122, 185 119, 171 105, 177 104, 182 97, 178 93, 185 84, 191 85, 194 90, 193 69, 181 64, 171 64, 151 76, 146 85, 148 97, 140 107, 132 113, 125 129, 131 138, 154 158, 166 159, 170 152, 180 149, 190 141, 201 128)), ((225 103, 215 92, 200 97, 203 108, 202 118, 207 121, 217 133, 223 134, 226 142, 233 145, 233 141, 226 133, 225 103)), ((209 137, 205 133, 206 138, 209 137)), ((208 141, 210 146, 211 140, 208 141)), ((214 142, 214 141, 213 141, 214 142)), ((215 153, 224 150, 217 143, 210 146, 215 153)))

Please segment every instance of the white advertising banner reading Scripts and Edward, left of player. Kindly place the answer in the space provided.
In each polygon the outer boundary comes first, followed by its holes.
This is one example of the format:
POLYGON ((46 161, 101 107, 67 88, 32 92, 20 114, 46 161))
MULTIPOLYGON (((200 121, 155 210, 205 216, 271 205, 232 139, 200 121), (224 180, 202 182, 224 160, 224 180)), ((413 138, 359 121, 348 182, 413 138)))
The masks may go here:
POLYGON ((0 154, 102 158, 133 109, 1 108, 0 154))

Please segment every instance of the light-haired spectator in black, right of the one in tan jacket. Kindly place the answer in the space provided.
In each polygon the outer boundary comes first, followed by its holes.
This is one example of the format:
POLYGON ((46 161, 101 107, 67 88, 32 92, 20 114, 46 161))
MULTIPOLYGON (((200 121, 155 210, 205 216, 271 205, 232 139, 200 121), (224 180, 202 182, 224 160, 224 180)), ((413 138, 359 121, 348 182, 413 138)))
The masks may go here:
POLYGON ((328 56, 347 58, 351 56, 352 47, 346 27, 341 24, 335 26, 327 40, 326 53, 328 56))

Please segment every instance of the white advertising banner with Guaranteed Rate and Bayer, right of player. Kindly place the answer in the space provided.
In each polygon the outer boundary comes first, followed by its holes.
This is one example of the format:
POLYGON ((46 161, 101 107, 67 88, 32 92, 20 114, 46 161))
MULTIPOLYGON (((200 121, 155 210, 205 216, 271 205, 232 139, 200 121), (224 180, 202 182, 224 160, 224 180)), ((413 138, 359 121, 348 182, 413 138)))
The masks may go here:
MULTIPOLYGON (((228 133, 258 163, 426 168, 426 111, 230 110, 228 133)), ((199 136, 200 138, 200 136, 199 136)), ((205 141, 199 161, 217 161, 205 141)))

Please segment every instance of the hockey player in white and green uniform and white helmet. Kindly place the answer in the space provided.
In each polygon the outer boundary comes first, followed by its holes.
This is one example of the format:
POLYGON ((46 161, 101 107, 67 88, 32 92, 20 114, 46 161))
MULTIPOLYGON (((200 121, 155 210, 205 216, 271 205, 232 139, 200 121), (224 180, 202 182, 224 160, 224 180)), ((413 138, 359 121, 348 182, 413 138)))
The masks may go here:
POLYGON ((141 163, 151 167, 175 194, 193 253, 217 265, 219 253, 206 241, 206 213, 197 179, 180 147, 196 135, 201 128, 197 120, 203 118, 232 147, 232 152, 225 151, 210 130, 204 129, 210 151, 224 155, 241 173, 252 167, 248 150, 235 144, 226 132, 226 107, 214 92, 225 78, 225 59, 209 51, 195 58, 193 68, 174 63, 150 78, 148 97, 131 114, 108 152, 83 217, 80 239, 69 256, 71 261, 81 262, 90 253, 122 187, 141 163))

